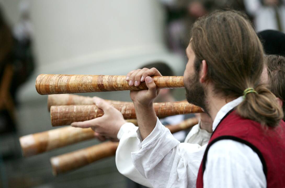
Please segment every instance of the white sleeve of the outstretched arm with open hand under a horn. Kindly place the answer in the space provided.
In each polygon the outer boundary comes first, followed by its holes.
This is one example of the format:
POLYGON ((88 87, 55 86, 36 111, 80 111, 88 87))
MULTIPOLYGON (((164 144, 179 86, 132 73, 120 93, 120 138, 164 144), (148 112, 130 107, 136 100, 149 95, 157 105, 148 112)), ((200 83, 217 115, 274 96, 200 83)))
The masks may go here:
POLYGON ((137 171, 131 159, 131 152, 139 150, 137 129, 138 127, 133 123, 125 123, 120 128, 117 135, 120 142, 116 151, 116 166, 118 171, 129 179, 146 187, 152 187, 148 180, 137 171))

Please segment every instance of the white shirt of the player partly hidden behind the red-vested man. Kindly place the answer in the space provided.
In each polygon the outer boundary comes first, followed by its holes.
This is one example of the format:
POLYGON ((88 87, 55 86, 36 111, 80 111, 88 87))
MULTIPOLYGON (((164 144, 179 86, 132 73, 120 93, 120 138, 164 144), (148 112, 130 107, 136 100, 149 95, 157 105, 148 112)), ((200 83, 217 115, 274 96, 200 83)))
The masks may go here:
MULTIPOLYGON (((117 135, 120 140, 119 146, 116 151, 116 165, 118 171, 129 179, 144 185, 146 187, 152 187, 149 181, 137 171, 133 165, 131 159, 131 152, 139 150, 139 140, 137 139, 137 129, 134 124, 126 123, 124 124, 117 135)), ((208 133, 204 129, 200 129, 200 123, 193 126, 191 131, 188 133, 184 142, 195 144, 196 148, 201 148, 201 146, 208 143, 211 133, 208 133), (199 146, 198 146, 198 145, 199 146)), ((201 148, 201 154, 205 151, 205 147, 201 148)), ((202 158, 201 158, 202 160, 202 158)), ((196 168, 199 168, 201 161, 195 163, 196 168)), ((194 178, 197 178, 196 176, 194 178)))

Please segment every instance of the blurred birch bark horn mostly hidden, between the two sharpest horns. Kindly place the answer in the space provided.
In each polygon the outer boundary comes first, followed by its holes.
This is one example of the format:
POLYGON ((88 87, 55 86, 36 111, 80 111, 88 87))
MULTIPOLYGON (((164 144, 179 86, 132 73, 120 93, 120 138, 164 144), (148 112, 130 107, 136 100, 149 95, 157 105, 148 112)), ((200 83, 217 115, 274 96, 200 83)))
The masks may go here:
MULTIPOLYGON (((132 104, 133 102, 124 102, 116 100, 105 100, 109 104, 132 104)), ((51 106, 58 105, 92 105, 94 104, 92 97, 85 97, 74 94, 54 94, 48 95, 48 111, 51 106)))

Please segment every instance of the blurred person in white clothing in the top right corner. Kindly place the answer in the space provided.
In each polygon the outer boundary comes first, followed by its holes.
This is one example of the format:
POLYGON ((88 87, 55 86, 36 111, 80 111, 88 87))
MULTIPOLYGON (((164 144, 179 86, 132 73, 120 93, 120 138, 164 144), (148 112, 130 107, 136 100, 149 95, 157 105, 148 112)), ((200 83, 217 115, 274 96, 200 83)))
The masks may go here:
POLYGON ((244 0, 247 13, 254 17, 255 30, 285 31, 284 0, 244 0))

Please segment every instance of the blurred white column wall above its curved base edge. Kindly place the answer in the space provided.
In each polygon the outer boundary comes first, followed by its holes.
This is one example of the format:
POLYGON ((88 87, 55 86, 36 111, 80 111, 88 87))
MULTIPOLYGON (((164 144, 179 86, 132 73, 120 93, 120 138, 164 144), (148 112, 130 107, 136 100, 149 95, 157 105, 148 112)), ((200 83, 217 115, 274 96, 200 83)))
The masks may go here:
POLYGON ((164 50, 163 11, 153 0, 32 0, 41 71, 164 50))

